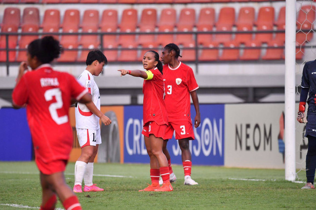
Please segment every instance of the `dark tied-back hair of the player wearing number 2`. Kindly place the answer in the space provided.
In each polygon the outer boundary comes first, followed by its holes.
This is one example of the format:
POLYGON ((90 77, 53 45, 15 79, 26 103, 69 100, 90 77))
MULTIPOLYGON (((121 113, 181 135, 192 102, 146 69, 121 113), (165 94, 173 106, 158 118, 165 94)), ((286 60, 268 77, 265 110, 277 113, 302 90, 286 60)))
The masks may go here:
POLYGON ((28 45, 30 56, 37 57, 42 64, 49 64, 63 52, 63 47, 53 36, 35 39, 28 45))

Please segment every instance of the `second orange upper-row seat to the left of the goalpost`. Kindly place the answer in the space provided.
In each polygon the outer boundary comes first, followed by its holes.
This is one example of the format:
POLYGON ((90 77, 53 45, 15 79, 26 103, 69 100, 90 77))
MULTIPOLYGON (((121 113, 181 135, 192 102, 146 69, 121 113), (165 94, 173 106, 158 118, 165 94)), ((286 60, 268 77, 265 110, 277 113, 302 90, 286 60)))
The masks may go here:
MULTIPOLYGON (((275 8, 272 6, 264 6, 259 9, 257 18, 257 31, 272 31, 275 22, 275 8)), ((272 40, 272 33, 255 34, 255 40, 267 43, 272 40)))

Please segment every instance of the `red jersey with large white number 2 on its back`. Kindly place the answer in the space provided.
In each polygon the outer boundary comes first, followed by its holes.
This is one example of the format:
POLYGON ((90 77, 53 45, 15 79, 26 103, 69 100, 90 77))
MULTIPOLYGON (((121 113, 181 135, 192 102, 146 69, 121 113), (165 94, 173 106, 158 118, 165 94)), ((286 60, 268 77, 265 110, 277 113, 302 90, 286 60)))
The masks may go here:
POLYGON ((68 160, 73 144, 69 122, 71 99, 79 100, 86 93, 69 73, 42 65, 23 75, 12 93, 14 104, 26 104, 27 119, 36 158, 43 162, 68 160))

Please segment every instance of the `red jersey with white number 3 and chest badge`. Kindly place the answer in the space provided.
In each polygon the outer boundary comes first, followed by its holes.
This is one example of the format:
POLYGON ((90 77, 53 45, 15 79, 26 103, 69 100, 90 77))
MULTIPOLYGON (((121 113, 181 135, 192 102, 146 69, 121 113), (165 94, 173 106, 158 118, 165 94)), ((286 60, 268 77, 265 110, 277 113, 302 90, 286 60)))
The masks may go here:
POLYGON ((164 103, 170 122, 190 120, 190 92, 197 90, 198 85, 193 70, 183 64, 175 69, 163 65, 165 87, 164 103))

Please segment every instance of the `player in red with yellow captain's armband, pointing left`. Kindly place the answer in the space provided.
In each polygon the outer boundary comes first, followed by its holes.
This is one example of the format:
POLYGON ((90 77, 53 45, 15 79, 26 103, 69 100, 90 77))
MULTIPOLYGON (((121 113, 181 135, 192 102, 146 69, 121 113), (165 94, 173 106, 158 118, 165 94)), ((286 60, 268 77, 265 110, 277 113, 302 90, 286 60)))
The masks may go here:
POLYGON ((166 156, 162 152, 168 116, 164 105, 164 86, 162 64, 156 51, 150 50, 143 57, 144 70, 118 70, 121 76, 130 74, 144 79, 143 119, 145 145, 150 157, 150 176, 152 184, 139 191, 172 191, 169 182, 169 167, 166 156), (159 175, 163 183, 159 186, 159 175))

